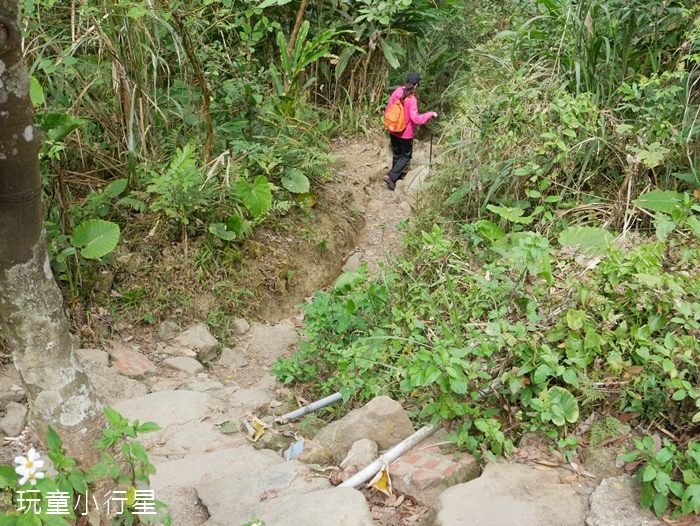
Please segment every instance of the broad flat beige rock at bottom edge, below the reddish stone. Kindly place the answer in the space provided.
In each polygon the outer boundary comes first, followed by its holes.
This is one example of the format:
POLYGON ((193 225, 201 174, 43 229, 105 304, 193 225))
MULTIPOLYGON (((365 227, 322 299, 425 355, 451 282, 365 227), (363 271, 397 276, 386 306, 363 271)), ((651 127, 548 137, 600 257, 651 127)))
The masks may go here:
MULTIPOLYGON (((587 499, 562 484, 556 469, 489 463, 482 475, 435 501, 430 526, 581 526, 587 499)), ((612 525, 611 525, 612 526, 612 525)))

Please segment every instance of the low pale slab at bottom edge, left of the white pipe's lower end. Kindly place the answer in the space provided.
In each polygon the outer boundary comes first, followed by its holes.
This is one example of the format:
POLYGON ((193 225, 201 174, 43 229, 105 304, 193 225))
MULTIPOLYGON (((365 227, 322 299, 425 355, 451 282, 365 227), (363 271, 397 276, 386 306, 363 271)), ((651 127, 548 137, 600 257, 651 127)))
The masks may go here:
POLYGON ((373 526, 362 493, 352 488, 330 488, 303 495, 287 495, 212 515, 204 526, 246 524, 251 518, 266 526, 373 526))

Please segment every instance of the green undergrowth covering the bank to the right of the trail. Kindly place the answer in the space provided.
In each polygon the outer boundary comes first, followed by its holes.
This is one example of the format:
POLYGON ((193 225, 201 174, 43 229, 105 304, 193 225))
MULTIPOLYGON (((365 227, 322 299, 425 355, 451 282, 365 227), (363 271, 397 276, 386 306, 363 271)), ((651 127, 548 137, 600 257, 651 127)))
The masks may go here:
POLYGON ((446 91, 445 159, 406 254, 318 292, 274 373, 394 396, 478 455, 539 432, 571 460, 629 422, 642 505, 698 513, 698 11, 646 2, 663 26, 632 60, 608 22, 644 2, 540 4, 446 91))

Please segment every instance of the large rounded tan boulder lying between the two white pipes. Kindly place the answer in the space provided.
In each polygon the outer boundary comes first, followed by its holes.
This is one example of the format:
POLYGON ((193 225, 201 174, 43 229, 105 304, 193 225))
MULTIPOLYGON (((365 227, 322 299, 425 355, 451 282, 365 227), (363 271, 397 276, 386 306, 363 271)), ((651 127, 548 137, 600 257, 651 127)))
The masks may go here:
POLYGON ((373 440, 379 449, 384 450, 411 436, 413 431, 401 404, 388 396, 378 396, 326 426, 315 440, 332 452, 336 462, 340 462, 352 445, 362 438, 373 440))

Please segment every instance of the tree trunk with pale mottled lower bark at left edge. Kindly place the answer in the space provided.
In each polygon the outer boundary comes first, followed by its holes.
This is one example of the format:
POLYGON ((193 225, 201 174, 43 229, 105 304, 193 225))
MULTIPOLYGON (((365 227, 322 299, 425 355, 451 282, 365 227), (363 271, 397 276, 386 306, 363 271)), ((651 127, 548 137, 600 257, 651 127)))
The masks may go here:
POLYGON ((31 423, 53 427, 90 465, 102 407, 77 361, 51 273, 43 226, 39 131, 20 46, 18 0, 0 0, 0 321, 29 401, 31 423))

